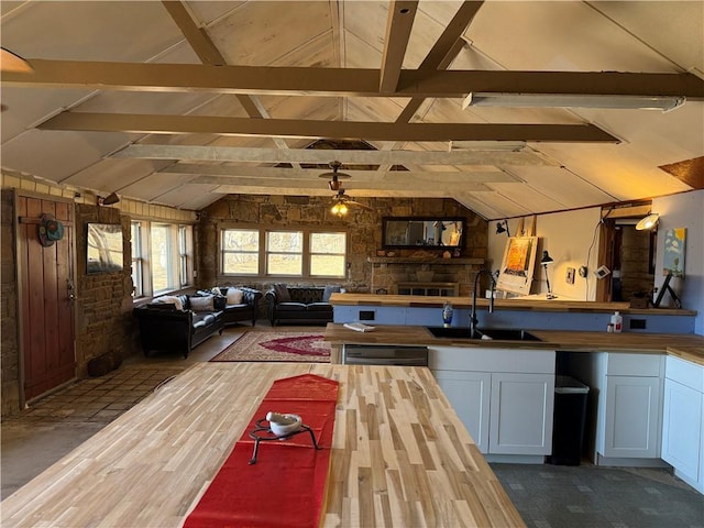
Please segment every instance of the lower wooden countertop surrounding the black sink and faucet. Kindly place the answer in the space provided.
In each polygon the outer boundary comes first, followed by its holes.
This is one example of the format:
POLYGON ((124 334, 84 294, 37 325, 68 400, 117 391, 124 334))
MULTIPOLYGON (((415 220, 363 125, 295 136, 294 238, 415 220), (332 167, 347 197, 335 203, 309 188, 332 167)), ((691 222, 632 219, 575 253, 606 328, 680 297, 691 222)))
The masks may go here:
POLYGON ((501 341, 436 338, 425 327, 377 324, 372 332, 355 332, 339 323, 328 323, 326 341, 333 344, 402 344, 473 348, 520 348, 575 352, 669 353, 704 365, 704 337, 683 333, 607 333, 561 330, 529 330, 542 341, 501 341))

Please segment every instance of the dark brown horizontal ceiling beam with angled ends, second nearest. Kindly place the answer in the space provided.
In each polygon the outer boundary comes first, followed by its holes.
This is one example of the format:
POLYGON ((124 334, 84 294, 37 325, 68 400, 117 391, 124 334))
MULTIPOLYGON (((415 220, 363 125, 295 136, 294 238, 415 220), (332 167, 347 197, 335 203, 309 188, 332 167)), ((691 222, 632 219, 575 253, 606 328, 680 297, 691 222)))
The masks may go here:
POLYGON ((144 134, 221 134, 369 141, 619 141, 593 124, 377 123, 90 112, 62 112, 37 128, 144 134))

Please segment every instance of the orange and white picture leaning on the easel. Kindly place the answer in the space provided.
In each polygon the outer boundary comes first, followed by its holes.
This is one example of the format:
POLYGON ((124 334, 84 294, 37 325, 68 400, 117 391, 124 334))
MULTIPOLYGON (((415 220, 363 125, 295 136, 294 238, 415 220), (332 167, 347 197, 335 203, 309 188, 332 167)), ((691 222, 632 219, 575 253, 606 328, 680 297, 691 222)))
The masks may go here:
POLYGON ((529 295, 537 251, 538 237, 509 237, 504 249, 496 289, 529 295))

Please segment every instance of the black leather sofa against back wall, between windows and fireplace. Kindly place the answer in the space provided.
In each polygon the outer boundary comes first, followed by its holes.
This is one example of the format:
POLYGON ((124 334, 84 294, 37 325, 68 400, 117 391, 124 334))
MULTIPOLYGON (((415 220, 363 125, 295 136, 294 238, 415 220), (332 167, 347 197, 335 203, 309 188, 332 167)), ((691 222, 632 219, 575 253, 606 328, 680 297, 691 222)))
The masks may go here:
POLYGON ((275 284, 264 297, 272 327, 288 324, 324 324, 332 321, 330 295, 339 286, 286 286, 275 284))

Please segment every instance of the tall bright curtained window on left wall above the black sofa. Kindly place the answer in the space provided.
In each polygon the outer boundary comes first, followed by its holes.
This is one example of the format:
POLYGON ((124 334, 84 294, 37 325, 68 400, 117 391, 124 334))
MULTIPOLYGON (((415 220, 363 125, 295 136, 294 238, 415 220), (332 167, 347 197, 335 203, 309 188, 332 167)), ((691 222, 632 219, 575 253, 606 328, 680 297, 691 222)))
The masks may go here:
POLYGON ((161 295, 193 284, 193 227, 132 222, 134 297, 161 295))

